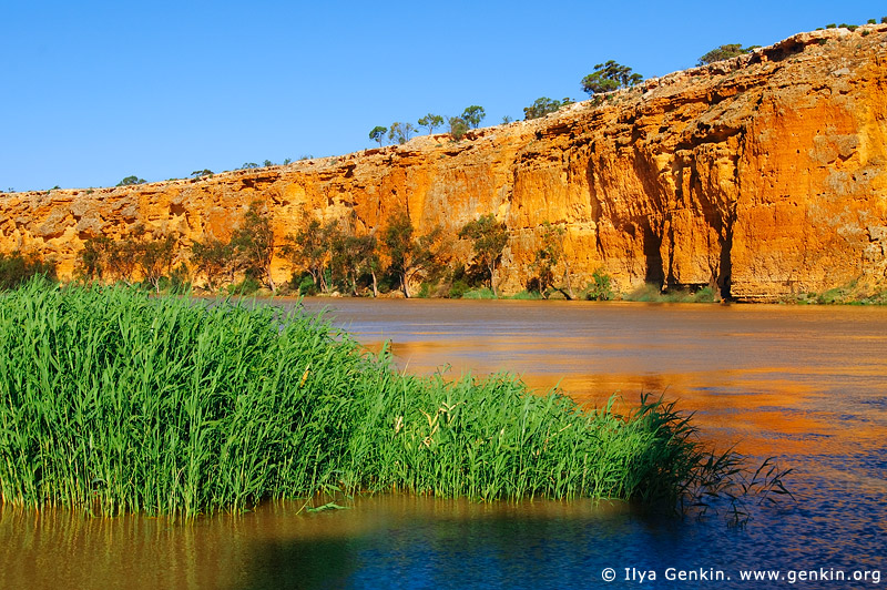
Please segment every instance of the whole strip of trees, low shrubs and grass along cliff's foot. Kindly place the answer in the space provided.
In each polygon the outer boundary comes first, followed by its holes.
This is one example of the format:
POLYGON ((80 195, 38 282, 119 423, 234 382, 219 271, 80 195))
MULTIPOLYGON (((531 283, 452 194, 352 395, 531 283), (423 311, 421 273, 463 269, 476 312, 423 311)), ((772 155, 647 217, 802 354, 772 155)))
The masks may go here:
MULTIPOLYGON (((645 283, 620 292, 604 267, 584 286, 574 287, 564 256, 565 231, 543 223, 524 288, 499 292, 497 269, 510 235, 492 214, 462 225, 457 242, 432 227, 418 234, 404 212, 369 232, 357 230, 354 216, 326 222, 305 216, 294 232, 275 240, 274 220, 253 203, 227 240, 207 237, 190 245, 177 234, 137 225, 116 240, 95 236, 78 256, 74 282, 122 283, 157 294, 405 296, 468 299, 582 299, 643 303, 715 303, 714 287, 645 283), (289 281, 278 284, 272 264, 285 260, 289 281), (195 284, 196 283, 196 287, 195 284)), ((55 264, 33 253, 0 254, 0 291, 33 276, 57 279, 55 264)), ((885 305, 887 292, 857 282, 822 293, 798 293, 778 303, 885 305)))

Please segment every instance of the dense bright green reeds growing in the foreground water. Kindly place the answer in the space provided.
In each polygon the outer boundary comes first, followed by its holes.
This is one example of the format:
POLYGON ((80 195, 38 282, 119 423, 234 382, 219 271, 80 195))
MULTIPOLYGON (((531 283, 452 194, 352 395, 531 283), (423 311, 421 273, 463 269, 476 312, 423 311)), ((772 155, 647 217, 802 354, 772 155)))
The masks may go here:
POLYGON ((298 311, 37 283, 0 298, 3 502, 193 516, 404 490, 675 505, 735 468, 671 406, 620 416, 510 376, 400 375, 298 311))

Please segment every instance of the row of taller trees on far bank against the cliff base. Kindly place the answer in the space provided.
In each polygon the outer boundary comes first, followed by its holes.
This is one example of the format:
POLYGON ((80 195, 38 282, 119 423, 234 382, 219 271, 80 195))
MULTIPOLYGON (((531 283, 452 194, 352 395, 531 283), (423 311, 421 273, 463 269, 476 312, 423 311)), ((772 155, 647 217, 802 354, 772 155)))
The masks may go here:
MULTIPOLYGON (((510 237, 492 214, 462 225, 456 240, 440 226, 418 233, 404 211, 370 230, 360 228, 354 215, 325 221, 305 215, 283 240, 275 240, 273 225, 267 208, 254 202, 227 240, 207 236, 187 245, 179 235, 144 226, 116 240, 91 237, 80 252, 77 275, 84 282, 141 284, 157 293, 181 292, 194 281, 208 293, 267 288, 296 295, 461 297, 489 289, 498 297, 497 269, 510 237), (273 279, 275 260, 292 269, 285 284, 273 279)), ((529 293, 537 292, 534 298, 554 292, 575 296, 562 255, 563 235, 562 227, 544 225, 537 276, 527 285, 529 293)))

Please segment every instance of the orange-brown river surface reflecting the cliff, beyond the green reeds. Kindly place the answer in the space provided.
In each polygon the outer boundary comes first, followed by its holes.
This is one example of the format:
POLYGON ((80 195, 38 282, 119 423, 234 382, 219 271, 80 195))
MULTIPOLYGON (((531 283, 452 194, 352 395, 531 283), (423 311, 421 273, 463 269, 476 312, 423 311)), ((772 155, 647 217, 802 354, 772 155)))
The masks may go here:
POLYGON ((511 370, 593 405, 613 393, 628 403, 641 393, 679 399, 708 435, 738 439, 745 452, 783 455, 774 437, 792 445, 806 436, 817 451, 879 444, 887 427, 885 308, 440 299, 306 307, 326 308, 370 347, 389 340, 410 373, 511 370))

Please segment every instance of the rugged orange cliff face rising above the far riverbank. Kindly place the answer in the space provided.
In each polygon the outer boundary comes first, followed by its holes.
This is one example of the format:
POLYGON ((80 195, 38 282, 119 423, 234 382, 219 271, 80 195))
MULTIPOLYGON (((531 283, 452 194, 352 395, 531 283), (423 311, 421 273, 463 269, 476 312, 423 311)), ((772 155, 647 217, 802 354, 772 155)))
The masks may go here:
MULTIPOLYGON (((498 282, 523 288, 544 222, 573 285, 716 285, 740 301, 887 287, 887 27, 802 33, 541 120, 286 166, 95 191, 0 194, 0 250, 73 272, 83 241, 137 224, 224 238, 251 202, 283 238, 305 213, 359 230, 407 210, 453 235, 495 213, 498 282)), ((468 252, 467 244, 459 247, 468 252)), ((184 251, 183 251, 184 253, 184 251)), ((183 254, 184 255, 184 254, 183 254)), ((288 278, 283 258, 276 278, 288 278)))

